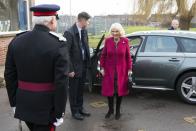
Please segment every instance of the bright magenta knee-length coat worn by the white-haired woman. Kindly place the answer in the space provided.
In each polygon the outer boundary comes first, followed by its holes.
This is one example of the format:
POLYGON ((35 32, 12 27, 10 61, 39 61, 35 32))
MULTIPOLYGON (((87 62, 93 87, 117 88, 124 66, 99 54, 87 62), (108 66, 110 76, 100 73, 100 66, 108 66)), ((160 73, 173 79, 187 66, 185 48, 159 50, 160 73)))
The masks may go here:
POLYGON ((113 37, 106 38, 100 58, 100 66, 104 69, 104 76, 102 80, 102 95, 114 95, 114 72, 116 61, 118 95, 125 96, 129 93, 127 86, 128 70, 132 69, 132 59, 130 55, 128 39, 120 37, 117 49, 113 39, 113 37))

